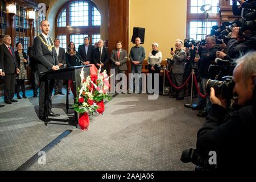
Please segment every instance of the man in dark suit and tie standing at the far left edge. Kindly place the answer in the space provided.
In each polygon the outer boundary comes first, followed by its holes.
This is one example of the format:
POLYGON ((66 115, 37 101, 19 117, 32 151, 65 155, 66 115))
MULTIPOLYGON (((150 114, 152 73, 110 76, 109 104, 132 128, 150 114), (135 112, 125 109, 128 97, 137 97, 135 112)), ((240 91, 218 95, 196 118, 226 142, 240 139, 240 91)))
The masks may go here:
POLYGON ((0 69, 1 76, 3 76, 5 103, 12 104, 12 102, 18 102, 13 97, 15 92, 15 77, 16 73, 19 73, 19 69, 15 53, 13 48, 11 48, 11 37, 9 35, 3 36, 3 45, 0 46, 0 69))

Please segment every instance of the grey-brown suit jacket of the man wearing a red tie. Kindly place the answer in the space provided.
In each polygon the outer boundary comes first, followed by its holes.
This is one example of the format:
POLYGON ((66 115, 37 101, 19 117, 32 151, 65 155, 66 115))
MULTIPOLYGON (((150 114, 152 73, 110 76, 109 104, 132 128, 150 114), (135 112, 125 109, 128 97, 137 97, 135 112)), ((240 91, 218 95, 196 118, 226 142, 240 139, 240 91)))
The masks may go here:
POLYGON ((128 57, 127 57, 127 51, 126 50, 121 49, 119 59, 118 59, 118 56, 117 56, 117 49, 113 50, 111 52, 111 56, 110 56, 110 60, 112 62, 111 68, 115 68, 115 69, 119 69, 119 70, 127 70, 127 65, 126 65, 127 59, 128 59, 128 57), (121 65, 117 66, 115 64, 117 61, 119 63, 121 63, 121 65))

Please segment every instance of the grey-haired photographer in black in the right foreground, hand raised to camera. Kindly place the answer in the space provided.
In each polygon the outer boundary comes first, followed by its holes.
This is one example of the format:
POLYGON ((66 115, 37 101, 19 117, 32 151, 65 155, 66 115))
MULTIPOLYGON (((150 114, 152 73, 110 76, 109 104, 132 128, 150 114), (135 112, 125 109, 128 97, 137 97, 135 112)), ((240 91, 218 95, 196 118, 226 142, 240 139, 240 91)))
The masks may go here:
POLYGON ((241 109, 229 113, 225 98, 215 96, 211 88, 213 106, 197 133, 197 152, 204 159, 209 151, 216 151, 218 170, 243 170, 256 168, 256 154, 251 151, 255 142, 256 52, 247 53, 237 60, 233 72, 235 103, 241 109), (254 89, 254 91, 253 91, 254 89), (254 100, 254 106, 253 106, 254 100))

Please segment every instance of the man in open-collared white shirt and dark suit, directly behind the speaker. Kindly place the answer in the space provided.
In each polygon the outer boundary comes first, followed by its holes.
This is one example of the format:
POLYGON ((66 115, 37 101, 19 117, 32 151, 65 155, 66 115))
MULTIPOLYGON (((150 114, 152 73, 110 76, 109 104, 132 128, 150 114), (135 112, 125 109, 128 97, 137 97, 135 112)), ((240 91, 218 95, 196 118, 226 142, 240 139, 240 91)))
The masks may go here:
MULTIPOLYGON (((65 49, 60 47, 60 39, 58 38, 54 40, 54 46, 58 56, 59 67, 60 69, 62 69, 64 68, 64 64, 65 64, 65 49)), ((57 94, 64 95, 64 93, 62 92, 62 86, 63 86, 63 80, 55 80, 55 84, 54 84, 55 96, 57 94)))

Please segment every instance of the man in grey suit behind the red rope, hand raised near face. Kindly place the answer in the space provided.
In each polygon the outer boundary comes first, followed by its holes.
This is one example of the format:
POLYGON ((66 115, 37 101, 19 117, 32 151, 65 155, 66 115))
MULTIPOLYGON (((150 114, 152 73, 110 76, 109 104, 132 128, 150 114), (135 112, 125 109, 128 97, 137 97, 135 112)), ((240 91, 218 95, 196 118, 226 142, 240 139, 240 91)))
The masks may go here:
MULTIPOLYGON (((175 51, 171 51, 172 55, 172 82, 176 86, 181 86, 183 84, 183 76, 184 76, 184 64, 187 54, 182 49, 182 43, 177 41, 175 44, 175 51)), ((177 90, 175 89, 174 97, 176 100, 184 100, 184 89, 177 90)))

